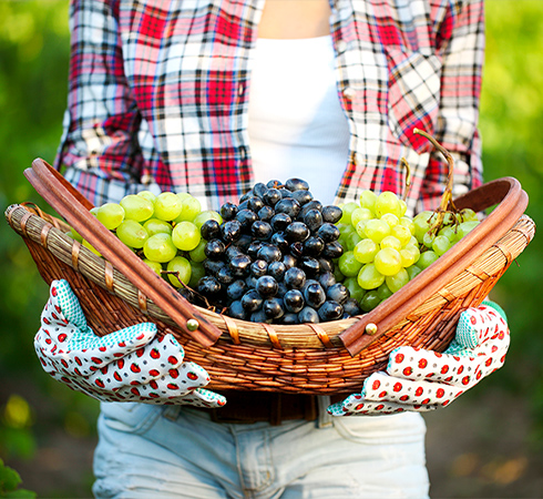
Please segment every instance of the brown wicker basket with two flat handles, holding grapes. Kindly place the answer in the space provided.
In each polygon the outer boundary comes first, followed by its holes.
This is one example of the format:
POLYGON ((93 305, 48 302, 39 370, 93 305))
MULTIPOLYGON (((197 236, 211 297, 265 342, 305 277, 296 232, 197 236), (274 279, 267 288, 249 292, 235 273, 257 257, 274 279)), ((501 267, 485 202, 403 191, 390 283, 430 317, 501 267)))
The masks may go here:
POLYGON ((92 204, 49 164, 35 160, 24 174, 104 255, 65 235, 69 225, 38 206, 9 206, 6 217, 43 279, 65 278, 99 335, 140 322, 173 333, 186 358, 207 369, 215 390, 349 393, 382 369, 398 346, 442 352, 460 313, 484 299, 535 233, 534 222, 523 215, 527 195, 520 183, 512 177, 490 182, 454 201, 477 212, 495 205, 484 222, 371 313, 319 325, 268 325, 191 305, 103 227, 89 213, 92 204), (187 327, 192 318, 198 324, 194 332, 187 327))

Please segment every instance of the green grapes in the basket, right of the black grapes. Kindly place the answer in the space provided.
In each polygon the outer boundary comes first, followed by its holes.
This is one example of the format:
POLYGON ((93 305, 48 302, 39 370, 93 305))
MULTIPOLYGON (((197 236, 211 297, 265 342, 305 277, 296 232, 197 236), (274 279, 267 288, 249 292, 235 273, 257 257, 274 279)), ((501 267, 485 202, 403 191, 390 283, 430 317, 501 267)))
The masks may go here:
POLYGON ((424 211, 406 216, 407 205, 392 192, 363 191, 359 203, 341 206, 336 278, 370 312, 451 248, 479 223, 472 210, 444 214, 424 211), (439 225, 439 226, 438 226, 439 225))

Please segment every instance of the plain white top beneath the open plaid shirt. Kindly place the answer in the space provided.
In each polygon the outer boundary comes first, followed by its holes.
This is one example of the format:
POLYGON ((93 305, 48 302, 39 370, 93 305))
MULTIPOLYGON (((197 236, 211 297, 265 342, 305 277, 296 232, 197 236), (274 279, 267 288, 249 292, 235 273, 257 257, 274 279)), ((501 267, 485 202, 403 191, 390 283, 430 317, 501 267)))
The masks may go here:
POLYGON ((291 177, 331 204, 349 154, 330 35, 257 39, 250 77, 249 145, 255 182, 291 177))

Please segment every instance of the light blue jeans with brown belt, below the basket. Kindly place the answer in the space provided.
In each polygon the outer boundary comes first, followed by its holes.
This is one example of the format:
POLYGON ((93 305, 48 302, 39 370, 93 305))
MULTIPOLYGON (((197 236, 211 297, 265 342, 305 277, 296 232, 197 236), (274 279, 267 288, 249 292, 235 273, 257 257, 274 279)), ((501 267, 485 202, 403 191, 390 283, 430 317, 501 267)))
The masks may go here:
MULTIPOLYGON (((326 405, 326 399, 322 401, 326 405)), ((180 406, 102 404, 96 497, 428 497, 418 414, 217 424, 180 406)))

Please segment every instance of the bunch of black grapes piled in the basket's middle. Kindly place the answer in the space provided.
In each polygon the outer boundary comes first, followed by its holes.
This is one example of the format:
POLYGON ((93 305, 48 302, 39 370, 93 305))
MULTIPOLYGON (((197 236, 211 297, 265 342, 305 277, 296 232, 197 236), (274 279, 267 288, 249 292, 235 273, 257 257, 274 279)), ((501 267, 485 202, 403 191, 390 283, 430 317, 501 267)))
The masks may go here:
POLYGON ((202 226, 206 275, 197 292, 230 317, 257 323, 319 323, 360 314, 337 283, 344 249, 338 206, 322 206, 300 179, 257 183, 202 226))

